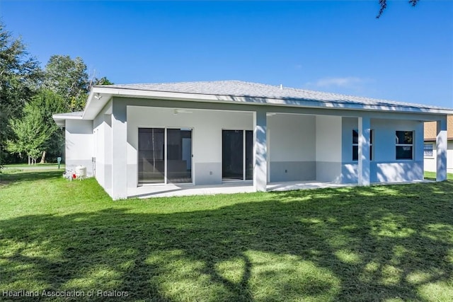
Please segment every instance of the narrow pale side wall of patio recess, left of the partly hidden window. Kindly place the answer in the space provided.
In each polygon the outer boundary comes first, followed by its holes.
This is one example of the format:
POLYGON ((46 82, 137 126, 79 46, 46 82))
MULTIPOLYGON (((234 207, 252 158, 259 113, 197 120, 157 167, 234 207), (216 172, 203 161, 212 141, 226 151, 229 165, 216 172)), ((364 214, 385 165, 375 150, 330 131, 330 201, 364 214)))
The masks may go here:
POLYGON ((341 182, 341 117, 316 116, 316 180, 341 182))

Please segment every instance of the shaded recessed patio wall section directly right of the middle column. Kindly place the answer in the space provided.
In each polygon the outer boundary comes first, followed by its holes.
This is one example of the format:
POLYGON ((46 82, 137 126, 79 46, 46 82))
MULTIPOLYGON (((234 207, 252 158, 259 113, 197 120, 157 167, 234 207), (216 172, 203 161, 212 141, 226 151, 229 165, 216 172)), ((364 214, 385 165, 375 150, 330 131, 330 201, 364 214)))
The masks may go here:
POLYGON ((269 115, 268 181, 316 180, 316 118, 269 115))

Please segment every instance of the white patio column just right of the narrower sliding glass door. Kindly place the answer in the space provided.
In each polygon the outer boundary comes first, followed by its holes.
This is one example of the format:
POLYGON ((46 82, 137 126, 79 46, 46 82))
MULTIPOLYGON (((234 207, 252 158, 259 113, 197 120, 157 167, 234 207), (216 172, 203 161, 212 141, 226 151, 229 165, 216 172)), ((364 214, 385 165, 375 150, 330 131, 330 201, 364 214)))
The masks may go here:
POLYGON ((267 117, 263 109, 253 113, 253 187, 265 192, 268 185, 267 117))

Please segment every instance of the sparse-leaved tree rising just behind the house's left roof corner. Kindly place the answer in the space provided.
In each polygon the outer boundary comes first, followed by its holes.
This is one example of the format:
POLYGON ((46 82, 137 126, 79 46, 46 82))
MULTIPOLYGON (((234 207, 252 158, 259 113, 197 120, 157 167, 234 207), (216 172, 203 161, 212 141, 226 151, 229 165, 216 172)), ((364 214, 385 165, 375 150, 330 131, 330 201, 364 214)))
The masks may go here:
POLYGON ((43 88, 54 91, 67 100, 68 111, 84 109, 89 81, 83 59, 53 55, 45 66, 44 76, 43 88))

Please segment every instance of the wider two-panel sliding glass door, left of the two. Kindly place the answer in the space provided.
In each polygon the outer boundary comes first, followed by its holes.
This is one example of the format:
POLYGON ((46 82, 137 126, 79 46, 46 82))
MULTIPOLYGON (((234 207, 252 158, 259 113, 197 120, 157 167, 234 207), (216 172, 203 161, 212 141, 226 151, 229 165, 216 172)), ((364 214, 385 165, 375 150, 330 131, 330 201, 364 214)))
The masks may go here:
POLYGON ((192 129, 139 128, 139 184, 192 182, 192 129))

